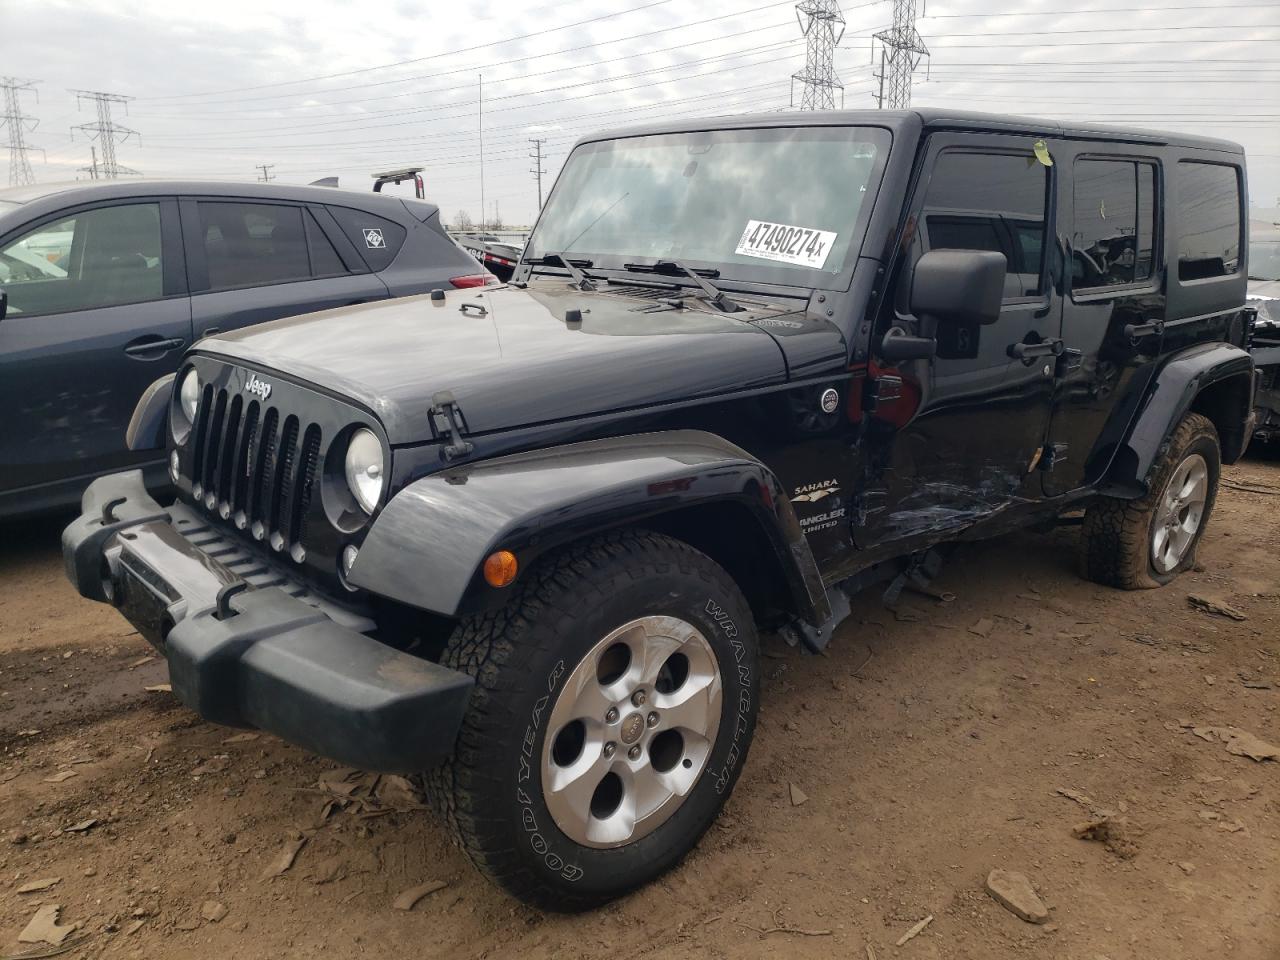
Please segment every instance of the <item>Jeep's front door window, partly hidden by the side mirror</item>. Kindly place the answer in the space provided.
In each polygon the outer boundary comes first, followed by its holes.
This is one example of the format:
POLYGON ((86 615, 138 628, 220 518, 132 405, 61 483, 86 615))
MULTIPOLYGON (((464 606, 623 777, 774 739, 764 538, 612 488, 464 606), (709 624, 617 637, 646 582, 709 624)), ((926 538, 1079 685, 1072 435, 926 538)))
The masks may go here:
POLYGON ((1004 253, 1005 300, 1038 297, 1047 198, 1043 164, 1014 154, 945 151, 924 195, 924 248, 1004 253))

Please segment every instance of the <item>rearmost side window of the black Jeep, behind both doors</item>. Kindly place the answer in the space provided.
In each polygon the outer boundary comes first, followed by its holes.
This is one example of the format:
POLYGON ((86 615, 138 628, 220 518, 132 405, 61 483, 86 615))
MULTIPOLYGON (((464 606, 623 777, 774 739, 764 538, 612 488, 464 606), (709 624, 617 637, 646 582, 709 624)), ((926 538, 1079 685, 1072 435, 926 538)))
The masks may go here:
POLYGON ((1178 164, 1178 279, 1230 276, 1240 269, 1240 178, 1236 168, 1178 164))

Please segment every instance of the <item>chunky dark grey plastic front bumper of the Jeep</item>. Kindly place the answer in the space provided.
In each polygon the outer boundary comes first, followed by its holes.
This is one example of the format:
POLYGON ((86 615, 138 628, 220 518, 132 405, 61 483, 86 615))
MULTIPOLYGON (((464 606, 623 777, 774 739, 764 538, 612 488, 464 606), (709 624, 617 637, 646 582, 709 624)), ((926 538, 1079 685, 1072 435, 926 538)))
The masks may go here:
POLYGON ((375 625, 269 568, 141 471, 95 480, 63 531, 67 576, 169 662, 215 723, 256 727, 339 763, 412 773, 453 750, 472 680, 383 644, 375 625))

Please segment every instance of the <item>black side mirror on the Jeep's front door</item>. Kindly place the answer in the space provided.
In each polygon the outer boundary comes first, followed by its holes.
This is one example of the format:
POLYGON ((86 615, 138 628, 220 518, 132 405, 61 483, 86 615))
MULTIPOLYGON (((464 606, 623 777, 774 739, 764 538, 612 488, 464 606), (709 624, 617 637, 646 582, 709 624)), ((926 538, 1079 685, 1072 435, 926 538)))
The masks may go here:
POLYGON ((911 312, 957 326, 987 326, 1000 319, 1005 296, 1004 253, 986 250, 931 250, 915 264, 911 312))

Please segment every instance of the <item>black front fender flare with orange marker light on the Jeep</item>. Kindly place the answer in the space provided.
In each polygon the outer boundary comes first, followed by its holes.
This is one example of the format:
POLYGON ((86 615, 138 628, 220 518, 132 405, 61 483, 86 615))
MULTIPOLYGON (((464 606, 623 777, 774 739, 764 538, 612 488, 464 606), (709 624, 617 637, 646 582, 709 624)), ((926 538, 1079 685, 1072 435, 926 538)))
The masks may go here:
POLYGON ((696 430, 566 444, 415 480, 381 509, 347 580, 461 616, 489 590, 480 570, 494 550, 512 550, 529 570, 564 543, 726 500, 760 524, 796 616, 826 623, 827 591, 777 477, 746 451, 696 430))

